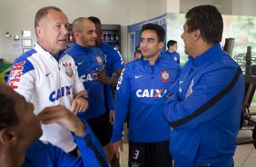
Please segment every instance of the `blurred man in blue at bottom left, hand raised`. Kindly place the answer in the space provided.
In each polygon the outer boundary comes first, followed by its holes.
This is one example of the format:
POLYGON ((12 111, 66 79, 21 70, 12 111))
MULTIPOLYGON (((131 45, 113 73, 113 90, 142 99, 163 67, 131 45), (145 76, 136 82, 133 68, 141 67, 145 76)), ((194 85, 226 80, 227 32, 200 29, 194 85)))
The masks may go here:
POLYGON ((34 105, 0 85, 0 164, 18 166, 108 166, 100 143, 89 126, 63 105, 45 108, 34 115, 34 105), (81 157, 65 153, 50 142, 39 141, 40 122, 59 123, 73 133, 81 157))

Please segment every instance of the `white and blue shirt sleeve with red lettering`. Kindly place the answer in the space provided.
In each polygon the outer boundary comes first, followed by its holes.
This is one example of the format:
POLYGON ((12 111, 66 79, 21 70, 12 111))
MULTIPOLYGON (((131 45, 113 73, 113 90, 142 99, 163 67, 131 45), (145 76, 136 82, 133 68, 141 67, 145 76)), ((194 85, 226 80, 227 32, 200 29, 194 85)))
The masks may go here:
POLYGON ((12 65, 7 84, 17 93, 23 95, 27 102, 31 102, 34 83, 34 65, 25 58, 16 59, 12 65))

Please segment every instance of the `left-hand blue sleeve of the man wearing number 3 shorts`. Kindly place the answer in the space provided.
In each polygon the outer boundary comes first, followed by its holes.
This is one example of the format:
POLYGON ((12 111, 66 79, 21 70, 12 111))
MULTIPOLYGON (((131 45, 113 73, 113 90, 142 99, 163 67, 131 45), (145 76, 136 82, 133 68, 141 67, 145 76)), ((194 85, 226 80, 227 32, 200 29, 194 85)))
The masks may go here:
POLYGON ((112 142, 119 141, 123 137, 123 123, 128 113, 131 98, 131 84, 128 74, 128 69, 124 68, 116 86, 112 142))

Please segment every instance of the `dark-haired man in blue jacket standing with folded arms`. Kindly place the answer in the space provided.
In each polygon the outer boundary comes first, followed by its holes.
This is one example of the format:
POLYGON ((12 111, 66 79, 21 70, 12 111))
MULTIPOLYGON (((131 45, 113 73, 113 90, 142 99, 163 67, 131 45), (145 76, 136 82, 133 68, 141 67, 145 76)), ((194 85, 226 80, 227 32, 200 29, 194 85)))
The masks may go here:
POLYGON ((244 81, 239 65, 222 50, 222 15, 212 5, 185 15, 182 39, 189 61, 166 98, 175 166, 233 166, 244 81), (177 84, 177 85, 175 85, 177 84))

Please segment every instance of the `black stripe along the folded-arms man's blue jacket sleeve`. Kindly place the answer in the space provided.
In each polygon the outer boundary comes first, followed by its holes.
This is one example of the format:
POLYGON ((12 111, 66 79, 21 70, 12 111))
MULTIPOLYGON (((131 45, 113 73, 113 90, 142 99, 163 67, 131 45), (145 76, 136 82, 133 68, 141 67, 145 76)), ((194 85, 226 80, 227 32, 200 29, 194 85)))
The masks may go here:
POLYGON ((212 99, 210 99, 207 103, 204 103, 199 109, 197 109, 191 115, 188 115, 188 116, 182 118, 181 120, 171 122, 169 124, 173 128, 175 128, 175 127, 181 126, 183 123, 187 123, 187 122, 191 121, 194 117, 196 117, 196 116, 200 115, 201 113, 205 112, 214 103, 217 103, 226 93, 231 91, 232 87, 237 82, 240 74, 241 74, 241 68, 238 67, 236 74, 233 76, 233 78, 231 80, 231 83, 229 83, 229 85, 225 89, 223 89, 220 93, 217 93, 214 97, 212 97, 212 99))

